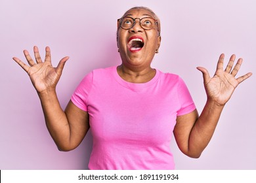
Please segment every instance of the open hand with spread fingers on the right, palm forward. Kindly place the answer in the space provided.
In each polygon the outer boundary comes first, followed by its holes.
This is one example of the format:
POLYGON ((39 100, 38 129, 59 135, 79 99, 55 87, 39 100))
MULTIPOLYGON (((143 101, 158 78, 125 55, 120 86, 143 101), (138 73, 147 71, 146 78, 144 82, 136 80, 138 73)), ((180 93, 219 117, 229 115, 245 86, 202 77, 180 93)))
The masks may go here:
POLYGON ((203 73, 203 83, 205 86, 207 99, 214 101, 217 105, 225 105, 238 84, 252 75, 252 73, 247 73, 246 75, 235 78, 243 61, 242 58, 238 59, 236 65, 234 68, 232 68, 235 59, 236 56, 232 55, 228 65, 226 66, 226 69, 223 70, 224 54, 221 54, 213 78, 209 76, 207 69, 203 67, 197 67, 197 69, 203 73))

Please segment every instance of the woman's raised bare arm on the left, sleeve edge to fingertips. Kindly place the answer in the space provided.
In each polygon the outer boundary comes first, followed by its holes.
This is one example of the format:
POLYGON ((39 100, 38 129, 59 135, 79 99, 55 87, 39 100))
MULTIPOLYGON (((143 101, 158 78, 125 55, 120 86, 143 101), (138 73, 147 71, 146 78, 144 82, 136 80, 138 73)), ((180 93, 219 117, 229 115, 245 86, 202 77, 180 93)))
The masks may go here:
POLYGON ((50 48, 47 46, 45 51, 45 61, 42 61, 37 46, 33 48, 35 61, 24 50, 28 65, 18 58, 13 59, 30 76, 41 101, 47 129, 58 149, 72 150, 80 144, 89 129, 88 114, 77 108, 72 101, 68 103, 65 111, 62 110, 56 95, 56 85, 68 57, 62 58, 58 66, 53 67, 50 48))

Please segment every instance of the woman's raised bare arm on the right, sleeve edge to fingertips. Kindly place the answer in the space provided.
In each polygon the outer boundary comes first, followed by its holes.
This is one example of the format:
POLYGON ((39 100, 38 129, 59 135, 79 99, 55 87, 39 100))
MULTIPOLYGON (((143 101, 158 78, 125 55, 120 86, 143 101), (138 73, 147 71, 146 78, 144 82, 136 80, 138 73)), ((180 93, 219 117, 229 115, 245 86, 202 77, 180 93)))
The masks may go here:
POLYGON ((213 136, 224 105, 230 99, 238 84, 252 75, 252 73, 247 73, 235 78, 242 64, 242 58, 238 59, 232 69, 235 59, 236 56, 232 55, 226 69, 223 70, 224 54, 221 54, 213 78, 209 76, 207 69, 197 68, 203 73, 203 83, 207 94, 205 107, 199 117, 196 110, 190 114, 178 116, 174 129, 177 144, 187 156, 200 157, 213 136))

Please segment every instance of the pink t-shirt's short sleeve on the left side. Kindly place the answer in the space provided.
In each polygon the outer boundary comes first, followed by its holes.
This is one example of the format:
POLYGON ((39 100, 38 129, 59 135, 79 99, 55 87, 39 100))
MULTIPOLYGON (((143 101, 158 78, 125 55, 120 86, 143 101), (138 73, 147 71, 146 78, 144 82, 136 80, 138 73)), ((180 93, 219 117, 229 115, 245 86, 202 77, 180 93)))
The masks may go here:
POLYGON ((87 100, 92 86, 93 72, 89 73, 83 78, 83 80, 81 80, 71 97, 71 101, 76 107, 81 108, 81 110, 88 111, 87 100))

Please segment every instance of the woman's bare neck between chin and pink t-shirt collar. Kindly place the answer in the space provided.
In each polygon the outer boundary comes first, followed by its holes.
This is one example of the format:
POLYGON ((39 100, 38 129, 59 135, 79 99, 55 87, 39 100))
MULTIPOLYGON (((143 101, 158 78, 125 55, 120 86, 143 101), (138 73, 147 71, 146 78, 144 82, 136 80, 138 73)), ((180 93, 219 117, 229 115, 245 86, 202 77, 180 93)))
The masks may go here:
POLYGON ((151 67, 147 67, 144 69, 130 69, 125 67, 125 65, 119 65, 117 67, 118 75, 123 78, 123 80, 127 82, 133 83, 145 83, 156 75, 156 70, 151 67))

